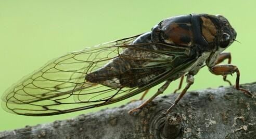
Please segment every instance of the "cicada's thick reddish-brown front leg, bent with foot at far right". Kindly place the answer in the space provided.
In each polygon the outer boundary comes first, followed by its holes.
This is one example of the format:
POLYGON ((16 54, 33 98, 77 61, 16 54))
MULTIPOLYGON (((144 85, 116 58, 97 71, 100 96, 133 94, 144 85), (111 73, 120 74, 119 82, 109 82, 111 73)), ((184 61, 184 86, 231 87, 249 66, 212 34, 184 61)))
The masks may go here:
POLYGON ((239 87, 240 72, 239 72, 239 69, 237 68, 237 66, 234 66, 234 65, 231 65, 231 64, 215 65, 215 66, 209 68, 209 70, 215 75, 223 75, 223 76, 226 76, 228 74, 233 74, 233 73, 236 72, 235 88, 237 90, 241 90, 241 91, 245 92, 245 94, 248 94, 249 96, 252 96, 250 91, 239 87))

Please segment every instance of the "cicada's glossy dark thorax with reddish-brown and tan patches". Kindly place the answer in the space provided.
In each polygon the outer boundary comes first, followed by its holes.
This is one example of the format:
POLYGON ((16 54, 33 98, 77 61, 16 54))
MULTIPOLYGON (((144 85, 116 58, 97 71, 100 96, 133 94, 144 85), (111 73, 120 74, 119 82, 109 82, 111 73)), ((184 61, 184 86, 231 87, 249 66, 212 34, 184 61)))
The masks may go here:
POLYGON ((152 40, 183 47, 214 51, 219 22, 209 14, 171 17, 152 28, 152 40))

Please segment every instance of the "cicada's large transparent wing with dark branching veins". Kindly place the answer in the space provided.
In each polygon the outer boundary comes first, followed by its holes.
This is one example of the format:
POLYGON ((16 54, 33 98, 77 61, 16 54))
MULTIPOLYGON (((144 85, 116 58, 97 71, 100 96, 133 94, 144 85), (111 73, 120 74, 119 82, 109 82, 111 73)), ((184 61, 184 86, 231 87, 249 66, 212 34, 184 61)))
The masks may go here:
MULTIPOLYGON (((142 45, 151 45, 151 43, 131 45, 131 42, 138 36, 100 44, 49 61, 44 67, 25 76, 17 84, 6 90, 2 97, 4 110, 20 115, 47 116, 107 105, 153 87, 193 63, 193 60, 188 60, 181 66, 170 68, 176 57, 187 57, 189 50, 168 45, 172 51, 156 51, 142 47, 142 45), (127 49, 136 52, 143 51, 157 56, 150 58, 120 54, 127 49), (143 61, 144 66, 139 68, 150 69, 143 70, 144 72, 135 72, 133 73, 134 76, 136 74, 138 74, 137 76, 149 75, 150 72, 161 70, 164 72, 161 71, 161 74, 150 79, 147 84, 135 87, 126 87, 125 85, 108 87, 85 80, 86 75, 118 57, 143 61)), ((156 44, 166 47, 165 44, 156 44)), ((124 78, 129 77, 124 76, 124 78)), ((127 84, 129 82, 133 81, 128 80, 127 84)))

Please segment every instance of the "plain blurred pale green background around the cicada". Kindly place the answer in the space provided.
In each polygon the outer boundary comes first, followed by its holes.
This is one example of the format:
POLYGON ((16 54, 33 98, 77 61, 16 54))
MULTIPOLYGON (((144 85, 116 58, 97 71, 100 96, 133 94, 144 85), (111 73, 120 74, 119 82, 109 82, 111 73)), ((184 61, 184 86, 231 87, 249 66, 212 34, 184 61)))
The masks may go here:
MULTIPOLYGON (((87 46, 147 32, 164 18, 189 13, 222 14, 237 31, 227 51, 241 71, 241 83, 255 81, 256 1, 3 1, 0 0, 0 95, 48 60, 87 46)), ((233 83, 235 76, 228 76, 233 83)), ((171 84, 165 94, 177 87, 171 84)), ((227 86, 207 68, 189 90, 227 86)), ((156 88, 151 89, 150 95, 156 88)), ((150 97, 147 95, 147 97, 150 97)), ((131 99, 139 98, 135 96, 131 99)), ((130 100, 126 100, 130 101, 130 100)), ((119 106, 126 102, 120 102, 119 106)), ((106 107, 100 107, 104 109, 106 107)), ((0 109, 0 131, 67 119, 80 114, 28 117, 0 109)))

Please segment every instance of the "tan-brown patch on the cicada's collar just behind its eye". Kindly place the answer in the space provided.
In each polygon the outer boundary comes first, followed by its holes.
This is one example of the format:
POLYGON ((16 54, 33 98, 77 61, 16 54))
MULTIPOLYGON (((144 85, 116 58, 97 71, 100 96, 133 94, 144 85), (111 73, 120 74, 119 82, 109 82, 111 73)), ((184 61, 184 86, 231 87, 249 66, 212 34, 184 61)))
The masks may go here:
POLYGON ((213 42, 217 34, 217 29, 213 22, 206 18, 201 17, 202 20, 202 35, 208 42, 213 42))

